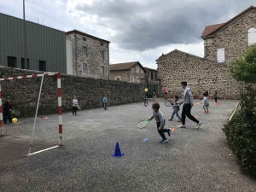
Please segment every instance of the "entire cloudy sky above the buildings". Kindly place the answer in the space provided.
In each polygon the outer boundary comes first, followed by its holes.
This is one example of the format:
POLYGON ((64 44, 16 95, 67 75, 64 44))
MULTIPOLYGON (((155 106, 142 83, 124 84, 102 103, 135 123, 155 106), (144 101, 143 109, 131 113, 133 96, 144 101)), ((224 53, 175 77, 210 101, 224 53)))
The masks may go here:
MULTIPOLYGON (((26 20, 68 32, 77 29, 109 44, 110 64, 156 59, 174 49, 204 56, 205 26, 224 23, 255 0, 25 0, 26 20)), ((0 0, 0 12, 23 19, 23 0, 0 0)), ((1 26, 0 26, 1 27, 1 26)))

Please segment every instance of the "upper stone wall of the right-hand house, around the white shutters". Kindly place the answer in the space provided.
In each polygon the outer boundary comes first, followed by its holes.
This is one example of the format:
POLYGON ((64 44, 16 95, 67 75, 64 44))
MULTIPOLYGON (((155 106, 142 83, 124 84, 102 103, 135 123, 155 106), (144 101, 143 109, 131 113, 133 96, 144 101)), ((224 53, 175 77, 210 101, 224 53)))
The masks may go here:
POLYGON ((212 44, 207 45, 207 59, 217 62, 217 49, 224 48, 225 63, 230 66, 230 62, 243 55, 248 48, 247 32, 255 27, 256 10, 251 9, 244 15, 224 26, 212 37, 212 44))

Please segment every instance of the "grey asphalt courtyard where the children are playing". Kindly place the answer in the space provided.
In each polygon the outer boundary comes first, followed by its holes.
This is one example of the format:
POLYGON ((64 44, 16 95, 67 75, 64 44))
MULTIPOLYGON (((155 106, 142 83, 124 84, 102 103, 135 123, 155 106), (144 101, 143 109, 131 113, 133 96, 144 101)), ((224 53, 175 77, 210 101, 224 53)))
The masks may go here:
MULTIPOLYGON (((159 102, 169 119, 172 108, 162 98, 159 102)), ((177 128, 177 117, 166 121, 177 130, 164 144, 154 119, 137 128, 137 121, 151 116, 151 103, 63 113, 63 146, 30 157, 25 155, 33 118, 4 125, 0 191, 256 191, 256 180, 241 170, 222 131, 237 101, 219 106, 210 101, 207 114, 195 105, 192 114, 203 122, 200 129, 189 119, 187 129, 177 128), (111 156, 116 143, 125 154, 121 158, 111 156)), ((58 116, 47 117, 37 119, 32 152, 58 144, 58 116)))

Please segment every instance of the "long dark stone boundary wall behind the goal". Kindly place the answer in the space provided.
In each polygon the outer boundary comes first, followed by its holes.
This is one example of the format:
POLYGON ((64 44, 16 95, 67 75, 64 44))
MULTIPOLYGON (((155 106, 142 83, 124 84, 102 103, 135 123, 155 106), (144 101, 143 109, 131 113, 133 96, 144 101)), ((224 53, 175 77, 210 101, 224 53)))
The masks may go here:
MULTIPOLYGON (((38 71, 20 70, 0 67, 1 78, 40 73, 38 71)), ((22 116, 34 115, 41 78, 16 79, 1 81, 3 102, 11 96, 14 108, 21 111, 22 116)), ((62 111, 72 109, 73 96, 78 96, 82 108, 102 107, 102 98, 108 96, 108 105, 138 102, 143 100, 143 84, 134 84, 106 79, 91 79, 61 74, 62 111)), ((39 114, 57 113, 57 79, 55 76, 44 78, 39 114)))

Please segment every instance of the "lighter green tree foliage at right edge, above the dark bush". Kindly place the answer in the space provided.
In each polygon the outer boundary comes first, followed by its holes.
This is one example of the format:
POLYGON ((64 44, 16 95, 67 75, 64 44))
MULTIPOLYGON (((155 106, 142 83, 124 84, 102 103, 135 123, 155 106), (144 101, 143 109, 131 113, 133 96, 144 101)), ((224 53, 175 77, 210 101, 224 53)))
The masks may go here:
POLYGON ((232 77, 246 83, 256 83, 256 44, 250 45, 243 57, 231 62, 232 77))

